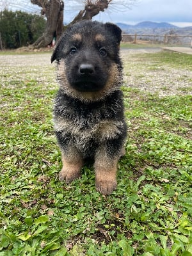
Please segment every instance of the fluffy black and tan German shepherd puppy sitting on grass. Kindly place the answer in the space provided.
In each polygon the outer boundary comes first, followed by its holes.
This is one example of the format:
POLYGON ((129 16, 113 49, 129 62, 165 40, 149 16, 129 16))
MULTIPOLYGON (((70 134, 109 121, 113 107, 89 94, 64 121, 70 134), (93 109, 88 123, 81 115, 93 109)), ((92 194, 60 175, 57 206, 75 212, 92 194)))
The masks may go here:
POLYGON ((120 91, 121 34, 115 24, 84 20, 67 28, 51 57, 60 84, 54 104, 60 180, 77 179, 84 161, 93 159, 95 186, 103 195, 116 189, 127 131, 120 91))

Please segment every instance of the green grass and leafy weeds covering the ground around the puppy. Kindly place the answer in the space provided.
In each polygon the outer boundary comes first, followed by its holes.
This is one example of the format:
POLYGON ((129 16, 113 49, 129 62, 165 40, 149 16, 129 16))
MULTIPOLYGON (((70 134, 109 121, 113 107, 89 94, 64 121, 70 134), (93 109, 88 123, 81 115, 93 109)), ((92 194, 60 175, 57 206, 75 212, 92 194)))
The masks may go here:
MULTIPOLYGON (((192 67, 185 54, 142 55, 143 65, 149 59, 192 67)), ((92 166, 68 186, 58 180, 53 72, 40 82, 13 72, 1 84, 0 256, 191 256, 192 97, 122 88, 126 154, 117 190, 102 196, 92 166)))

